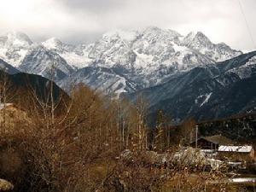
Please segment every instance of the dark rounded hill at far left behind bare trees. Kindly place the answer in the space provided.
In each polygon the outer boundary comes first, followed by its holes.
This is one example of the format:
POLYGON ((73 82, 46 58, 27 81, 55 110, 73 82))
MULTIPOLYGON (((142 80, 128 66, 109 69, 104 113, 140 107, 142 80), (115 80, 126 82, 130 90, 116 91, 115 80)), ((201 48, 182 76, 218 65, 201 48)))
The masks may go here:
MULTIPOLYGON (((34 108, 33 104, 40 106, 41 102, 47 103, 50 100, 51 81, 39 75, 8 74, 0 71, 0 82, 2 85, 5 84, 5 86, 1 86, 2 100, 5 98, 5 102, 15 103, 20 108, 32 109, 34 108), (4 96, 3 89, 6 90, 4 96)), ((64 108, 69 96, 55 83, 52 85, 54 102, 59 103, 59 109, 64 108)))

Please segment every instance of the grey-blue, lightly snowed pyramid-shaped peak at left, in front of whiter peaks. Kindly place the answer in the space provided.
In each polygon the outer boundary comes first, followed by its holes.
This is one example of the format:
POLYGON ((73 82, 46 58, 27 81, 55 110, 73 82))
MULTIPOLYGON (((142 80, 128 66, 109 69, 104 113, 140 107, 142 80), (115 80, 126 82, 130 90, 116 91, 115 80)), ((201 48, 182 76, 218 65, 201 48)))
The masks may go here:
POLYGON ((73 67, 70 67, 67 61, 42 45, 35 45, 27 53, 19 68, 22 72, 42 75, 48 79, 52 79, 54 69, 55 81, 73 73, 73 67))

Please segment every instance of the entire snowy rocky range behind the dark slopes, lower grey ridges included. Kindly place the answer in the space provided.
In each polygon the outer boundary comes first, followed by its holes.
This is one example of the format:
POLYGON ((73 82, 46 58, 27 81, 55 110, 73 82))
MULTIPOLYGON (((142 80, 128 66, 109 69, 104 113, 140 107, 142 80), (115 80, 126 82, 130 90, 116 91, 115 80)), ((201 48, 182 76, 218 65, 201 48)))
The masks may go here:
POLYGON ((226 44, 213 44, 201 32, 183 37, 158 27, 108 32, 93 44, 79 45, 64 44, 57 38, 33 44, 19 32, 0 37, 0 58, 22 72, 49 78, 54 66, 55 82, 66 90, 69 82, 84 82, 117 95, 162 84, 194 67, 240 54, 226 44), (88 69, 91 75, 82 73, 88 69))

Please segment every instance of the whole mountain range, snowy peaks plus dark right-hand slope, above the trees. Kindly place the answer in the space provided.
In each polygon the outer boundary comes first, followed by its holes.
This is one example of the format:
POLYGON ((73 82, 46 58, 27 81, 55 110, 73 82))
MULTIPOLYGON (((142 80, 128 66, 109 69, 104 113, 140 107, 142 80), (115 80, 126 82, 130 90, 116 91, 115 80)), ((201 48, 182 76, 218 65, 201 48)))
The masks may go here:
POLYGON ((9 73, 42 75, 67 91, 84 83, 131 101, 143 94, 151 114, 161 108, 177 122, 253 111, 255 58, 202 32, 183 36, 158 27, 108 32, 79 45, 57 38, 36 44, 20 32, 0 37, 0 67, 9 73))

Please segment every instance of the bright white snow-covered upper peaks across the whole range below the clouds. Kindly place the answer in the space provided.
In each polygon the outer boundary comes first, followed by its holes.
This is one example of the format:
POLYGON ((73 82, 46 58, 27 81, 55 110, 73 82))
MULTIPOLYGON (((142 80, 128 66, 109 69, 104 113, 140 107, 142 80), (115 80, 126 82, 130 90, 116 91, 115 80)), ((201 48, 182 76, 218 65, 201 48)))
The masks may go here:
MULTIPOLYGON (((42 44, 75 68, 93 65, 121 65, 130 71, 147 68, 143 73, 152 73, 161 65, 189 70, 205 62, 224 61, 241 54, 226 44, 212 44, 201 32, 183 37, 178 32, 154 26, 141 31, 107 32, 94 44, 70 45, 57 38, 49 38, 42 44)), ((17 67, 31 45, 32 41, 25 34, 8 33, 0 37, 0 58, 17 67)))

